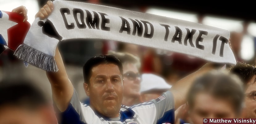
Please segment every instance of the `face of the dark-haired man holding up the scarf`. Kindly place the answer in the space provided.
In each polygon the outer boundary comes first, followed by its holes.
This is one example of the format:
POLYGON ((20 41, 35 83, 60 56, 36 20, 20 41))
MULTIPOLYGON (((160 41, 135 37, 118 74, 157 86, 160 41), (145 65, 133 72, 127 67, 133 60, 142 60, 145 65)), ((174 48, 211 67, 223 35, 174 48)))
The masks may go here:
POLYGON ((115 64, 100 64, 92 68, 89 82, 90 105, 109 118, 119 116, 123 98, 122 74, 115 64))

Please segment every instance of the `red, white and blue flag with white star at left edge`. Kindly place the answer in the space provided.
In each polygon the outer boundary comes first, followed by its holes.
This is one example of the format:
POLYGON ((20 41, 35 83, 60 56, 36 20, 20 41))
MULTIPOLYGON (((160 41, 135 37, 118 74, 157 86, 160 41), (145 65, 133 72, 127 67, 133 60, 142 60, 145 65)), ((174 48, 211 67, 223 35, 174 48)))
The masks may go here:
POLYGON ((23 41, 30 28, 30 23, 24 21, 24 16, 15 12, 0 10, 0 54, 4 46, 15 51, 23 41))

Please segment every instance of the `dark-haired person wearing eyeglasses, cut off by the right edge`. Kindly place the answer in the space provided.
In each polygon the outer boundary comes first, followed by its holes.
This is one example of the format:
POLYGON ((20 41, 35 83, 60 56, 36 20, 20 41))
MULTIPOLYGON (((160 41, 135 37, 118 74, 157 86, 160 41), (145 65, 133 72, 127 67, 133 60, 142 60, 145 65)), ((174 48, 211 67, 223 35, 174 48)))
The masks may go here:
POLYGON ((256 118, 256 68, 252 64, 237 62, 229 68, 231 73, 239 76, 245 84, 245 107, 242 118, 256 118))

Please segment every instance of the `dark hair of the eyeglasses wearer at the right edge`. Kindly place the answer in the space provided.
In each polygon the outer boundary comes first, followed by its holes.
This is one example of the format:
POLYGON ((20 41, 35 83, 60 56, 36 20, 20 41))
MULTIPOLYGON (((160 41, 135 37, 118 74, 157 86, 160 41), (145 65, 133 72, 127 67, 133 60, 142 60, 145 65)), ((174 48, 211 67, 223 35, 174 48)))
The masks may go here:
POLYGON ((256 68, 251 64, 246 64, 245 62, 237 62, 237 64, 229 68, 229 72, 237 75, 243 83, 247 84, 250 79, 256 75, 256 68))

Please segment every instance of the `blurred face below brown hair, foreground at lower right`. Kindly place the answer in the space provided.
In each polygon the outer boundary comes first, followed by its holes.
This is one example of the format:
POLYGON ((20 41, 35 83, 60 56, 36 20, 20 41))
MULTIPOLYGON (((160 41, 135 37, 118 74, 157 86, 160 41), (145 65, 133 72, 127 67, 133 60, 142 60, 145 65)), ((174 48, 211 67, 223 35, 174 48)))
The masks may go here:
POLYGON ((225 99, 198 93, 189 112, 193 124, 203 124, 203 118, 236 118, 235 110, 225 99))

